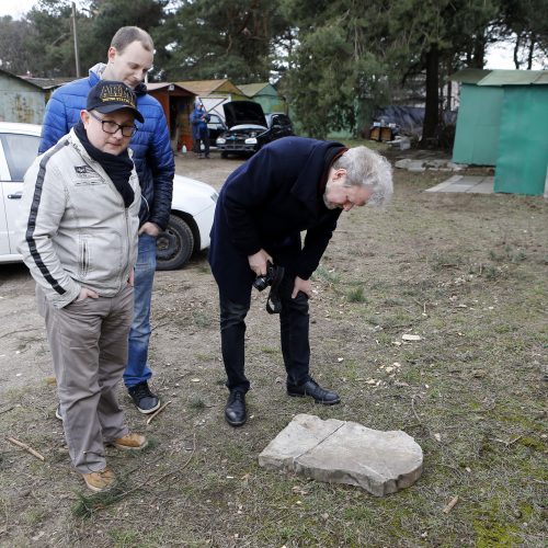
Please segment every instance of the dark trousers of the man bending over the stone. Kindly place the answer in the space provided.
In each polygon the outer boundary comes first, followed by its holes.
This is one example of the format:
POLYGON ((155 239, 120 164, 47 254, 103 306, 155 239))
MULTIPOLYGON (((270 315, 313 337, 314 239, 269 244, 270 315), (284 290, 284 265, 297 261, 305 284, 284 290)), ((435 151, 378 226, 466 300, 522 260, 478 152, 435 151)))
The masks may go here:
MULTIPOLYGON (((300 385, 308 380, 310 366, 308 296, 299 292, 297 297, 292 299, 294 283, 293 276, 285 275, 279 285, 282 300, 279 335, 287 380, 300 385)), ((247 392, 250 383, 244 372, 244 336, 249 305, 235 302, 221 292, 219 292, 219 304, 220 343, 227 372, 227 387, 229 390, 238 389, 247 392)))

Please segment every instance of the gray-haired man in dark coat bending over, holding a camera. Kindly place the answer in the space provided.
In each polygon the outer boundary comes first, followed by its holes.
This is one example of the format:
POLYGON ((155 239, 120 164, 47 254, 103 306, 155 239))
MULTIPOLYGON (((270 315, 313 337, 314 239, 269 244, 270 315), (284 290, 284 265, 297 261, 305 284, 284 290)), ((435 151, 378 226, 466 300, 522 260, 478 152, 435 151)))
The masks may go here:
POLYGON ((225 419, 231 426, 247 420, 244 319, 253 281, 266 274, 269 262, 284 267, 276 293, 287 393, 327 406, 339 403, 339 396, 309 374, 310 276, 341 213, 366 203, 381 205, 391 193, 391 168, 380 155, 301 137, 266 145, 229 175, 217 201, 209 264, 219 287, 221 351, 230 390, 225 419))

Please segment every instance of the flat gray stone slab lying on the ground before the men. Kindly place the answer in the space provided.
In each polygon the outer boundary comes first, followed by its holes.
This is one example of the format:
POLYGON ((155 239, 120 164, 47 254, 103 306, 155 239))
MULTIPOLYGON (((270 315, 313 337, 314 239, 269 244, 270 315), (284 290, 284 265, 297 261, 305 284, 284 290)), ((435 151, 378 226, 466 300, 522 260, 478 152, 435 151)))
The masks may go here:
POLYGON ((358 486, 383 496, 412 486, 422 449, 402 431, 298 414, 259 455, 259 465, 319 481, 358 486))

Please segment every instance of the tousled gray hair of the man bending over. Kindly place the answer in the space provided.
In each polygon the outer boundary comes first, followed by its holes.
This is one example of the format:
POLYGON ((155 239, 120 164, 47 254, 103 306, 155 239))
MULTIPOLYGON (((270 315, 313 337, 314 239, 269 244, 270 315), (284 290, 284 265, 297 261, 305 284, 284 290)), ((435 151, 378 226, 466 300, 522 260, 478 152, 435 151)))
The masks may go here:
POLYGON ((346 170, 345 186, 373 186, 367 205, 379 207, 390 199, 392 167, 378 152, 367 147, 354 147, 339 157, 332 167, 346 170))

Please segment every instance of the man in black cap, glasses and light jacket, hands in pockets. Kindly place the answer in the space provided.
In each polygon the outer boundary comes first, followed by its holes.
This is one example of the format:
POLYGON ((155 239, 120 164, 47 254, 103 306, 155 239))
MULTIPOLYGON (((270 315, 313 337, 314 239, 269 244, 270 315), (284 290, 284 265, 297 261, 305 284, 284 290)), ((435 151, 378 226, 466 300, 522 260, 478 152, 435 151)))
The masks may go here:
POLYGON ((25 174, 19 250, 36 281, 73 467, 114 482, 104 443, 141 449, 116 398, 133 318, 140 187, 128 153, 144 122, 125 83, 101 80, 80 122, 25 174))

